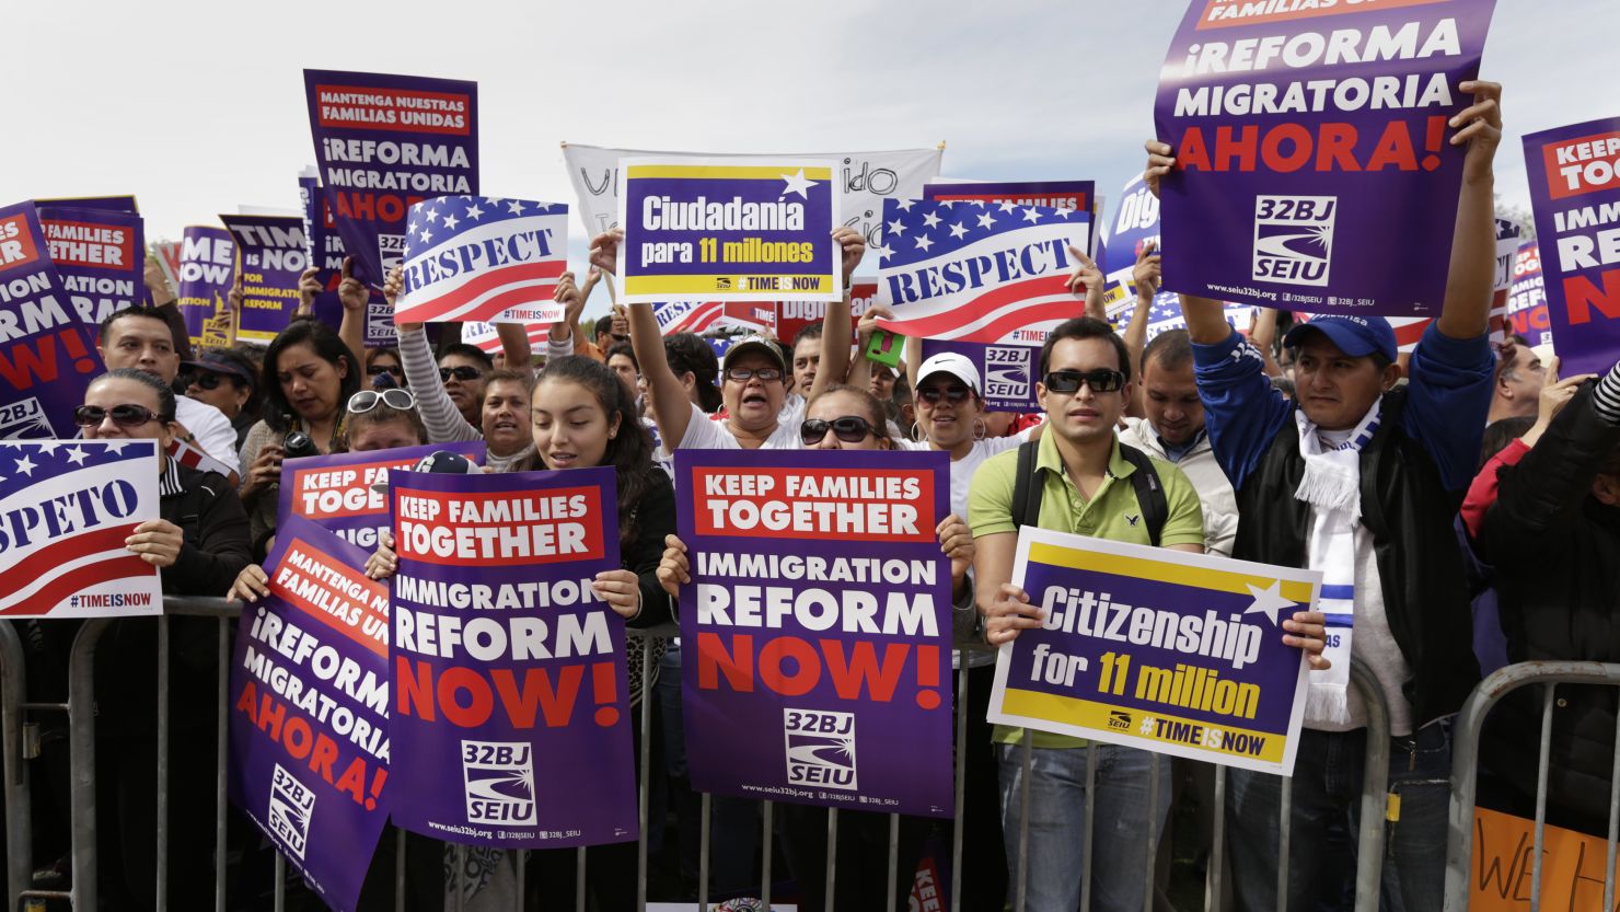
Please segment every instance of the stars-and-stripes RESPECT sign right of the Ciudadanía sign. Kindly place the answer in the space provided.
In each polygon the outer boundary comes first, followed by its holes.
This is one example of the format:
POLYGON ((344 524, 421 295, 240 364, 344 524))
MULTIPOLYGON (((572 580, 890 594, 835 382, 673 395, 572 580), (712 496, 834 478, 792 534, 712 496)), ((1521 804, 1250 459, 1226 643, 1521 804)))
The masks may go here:
POLYGON ((1092 214, 1014 202, 888 199, 878 326, 912 339, 1040 345, 1081 316, 1069 246, 1090 249, 1092 214))

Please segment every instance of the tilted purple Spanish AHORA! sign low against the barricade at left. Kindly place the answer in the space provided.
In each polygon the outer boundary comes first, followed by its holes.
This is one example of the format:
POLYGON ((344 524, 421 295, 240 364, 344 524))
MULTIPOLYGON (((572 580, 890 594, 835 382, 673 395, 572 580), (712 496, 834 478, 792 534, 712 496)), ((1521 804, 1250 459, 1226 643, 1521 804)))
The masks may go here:
POLYGON ((230 800, 350 912, 389 820, 389 588, 369 552, 282 517, 230 664, 230 800))

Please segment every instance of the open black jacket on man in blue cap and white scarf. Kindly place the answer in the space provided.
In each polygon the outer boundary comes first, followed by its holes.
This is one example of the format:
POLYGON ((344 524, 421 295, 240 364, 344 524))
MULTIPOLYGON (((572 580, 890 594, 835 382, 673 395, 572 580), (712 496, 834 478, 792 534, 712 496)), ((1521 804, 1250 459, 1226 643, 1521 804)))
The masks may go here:
MULTIPOLYGON (((1383 394, 1383 418, 1361 450, 1361 525, 1383 585, 1383 612, 1413 677, 1403 687, 1413 721, 1456 713, 1479 684, 1473 614, 1452 520, 1464 491, 1447 491, 1422 442, 1401 429, 1406 390, 1383 394)), ((1296 501, 1306 463, 1288 423, 1243 481, 1231 556, 1306 565, 1311 507, 1296 501)))

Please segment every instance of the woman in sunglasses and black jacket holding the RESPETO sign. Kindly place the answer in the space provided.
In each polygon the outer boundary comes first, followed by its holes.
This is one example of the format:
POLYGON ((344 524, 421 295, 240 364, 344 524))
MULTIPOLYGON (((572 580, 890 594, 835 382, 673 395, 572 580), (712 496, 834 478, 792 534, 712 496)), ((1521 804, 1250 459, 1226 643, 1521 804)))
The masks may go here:
MULTIPOLYGON (((173 434, 175 394, 144 371, 120 368, 91 382, 75 423, 86 441, 157 441, 160 518, 134 528, 125 548, 159 567, 165 595, 217 596, 249 560, 248 517, 237 491, 220 475, 180 465, 167 455, 173 434)), ((60 624, 60 622, 58 622, 60 624)), ((45 627, 53 633, 52 625, 45 627)), ((214 682, 217 627, 212 619, 175 617, 170 622, 170 789, 214 781, 214 682), (209 747, 202 747, 209 745, 209 747)), ((47 648, 50 648, 47 645, 47 648)), ((65 663, 63 663, 65 667, 65 663)), ((152 849, 157 805, 156 706, 128 682, 157 674, 157 625, 149 619, 120 620, 96 651, 97 781, 109 797, 99 818, 100 889, 110 907, 139 909, 154 893, 157 857, 152 849)), ((212 849, 214 795, 178 802, 170 813, 170 901, 201 907, 212 889, 188 883, 181 872, 207 863, 212 849)))

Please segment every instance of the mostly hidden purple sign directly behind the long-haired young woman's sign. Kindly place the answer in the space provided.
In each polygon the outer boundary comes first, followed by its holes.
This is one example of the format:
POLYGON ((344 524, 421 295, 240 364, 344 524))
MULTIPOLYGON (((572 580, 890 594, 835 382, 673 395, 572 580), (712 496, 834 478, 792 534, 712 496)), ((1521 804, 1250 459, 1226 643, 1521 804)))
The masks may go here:
POLYGON ((392 528, 386 488, 389 473, 415 468, 439 450, 484 463, 484 442, 444 442, 360 454, 332 454, 282 462, 280 520, 298 517, 321 523, 343 541, 376 551, 377 533, 392 528))

